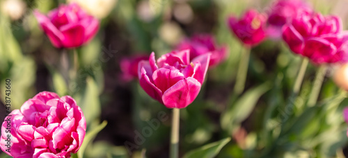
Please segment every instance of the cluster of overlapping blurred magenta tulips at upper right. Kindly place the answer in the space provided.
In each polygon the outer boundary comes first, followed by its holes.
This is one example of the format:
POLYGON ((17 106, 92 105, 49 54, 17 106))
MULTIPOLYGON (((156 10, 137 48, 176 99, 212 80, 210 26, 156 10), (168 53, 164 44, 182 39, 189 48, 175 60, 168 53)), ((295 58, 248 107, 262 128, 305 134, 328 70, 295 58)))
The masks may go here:
POLYGON ((283 37, 296 54, 315 64, 347 62, 347 33, 337 16, 324 16, 303 1, 280 0, 268 14, 248 10, 237 20, 228 19, 235 35, 247 46, 255 46, 265 37, 283 37))

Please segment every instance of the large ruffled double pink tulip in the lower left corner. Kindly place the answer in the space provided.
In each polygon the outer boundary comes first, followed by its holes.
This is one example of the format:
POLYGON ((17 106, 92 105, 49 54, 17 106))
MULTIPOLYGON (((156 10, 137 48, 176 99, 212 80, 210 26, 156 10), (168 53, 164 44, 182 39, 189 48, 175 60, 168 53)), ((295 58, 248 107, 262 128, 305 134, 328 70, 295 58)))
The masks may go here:
POLYGON ((85 134, 86 120, 75 100, 43 91, 6 117, 0 148, 15 158, 70 157, 85 134))

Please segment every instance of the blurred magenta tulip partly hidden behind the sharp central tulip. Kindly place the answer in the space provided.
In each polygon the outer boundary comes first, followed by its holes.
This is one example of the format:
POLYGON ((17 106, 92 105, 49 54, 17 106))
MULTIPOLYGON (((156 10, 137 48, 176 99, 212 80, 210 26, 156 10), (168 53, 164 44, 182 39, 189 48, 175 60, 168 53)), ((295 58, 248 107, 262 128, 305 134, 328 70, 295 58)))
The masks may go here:
POLYGON ((179 51, 187 49, 190 50, 190 60, 199 55, 210 53, 209 67, 223 62, 228 57, 227 47, 217 46, 212 35, 194 35, 191 39, 185 39, 177 45, 177 50, 179 51))

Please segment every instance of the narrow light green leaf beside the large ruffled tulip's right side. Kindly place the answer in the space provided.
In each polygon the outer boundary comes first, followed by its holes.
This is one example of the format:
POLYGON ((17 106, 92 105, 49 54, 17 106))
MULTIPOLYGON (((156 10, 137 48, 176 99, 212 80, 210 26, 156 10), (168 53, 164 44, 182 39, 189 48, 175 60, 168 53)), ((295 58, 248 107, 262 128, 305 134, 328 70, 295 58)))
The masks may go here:
POLYGON ((97 134, 105 128, 107 125, 107 121, 103 121, 100 125, 98 125, 96 128, 93 128, 93 130, 90 130, 89 132, 86 133, 86 136, 84 138, 84 142, 82 143, 79 151, 77 152, 77 156, 79 158, 84 157, 84 151, 86 150, 86 147, 90 141, 92 141, 97 134))

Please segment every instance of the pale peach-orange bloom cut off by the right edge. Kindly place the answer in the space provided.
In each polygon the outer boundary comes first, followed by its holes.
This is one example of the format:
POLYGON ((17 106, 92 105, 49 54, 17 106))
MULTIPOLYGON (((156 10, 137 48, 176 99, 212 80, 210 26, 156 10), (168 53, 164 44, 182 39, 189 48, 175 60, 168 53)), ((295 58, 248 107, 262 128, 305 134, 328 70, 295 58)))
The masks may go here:
POLYGON ((342 67, 335 71, 333 80, 338 87, 348 91, 348 63, 342 65, 342 67))

